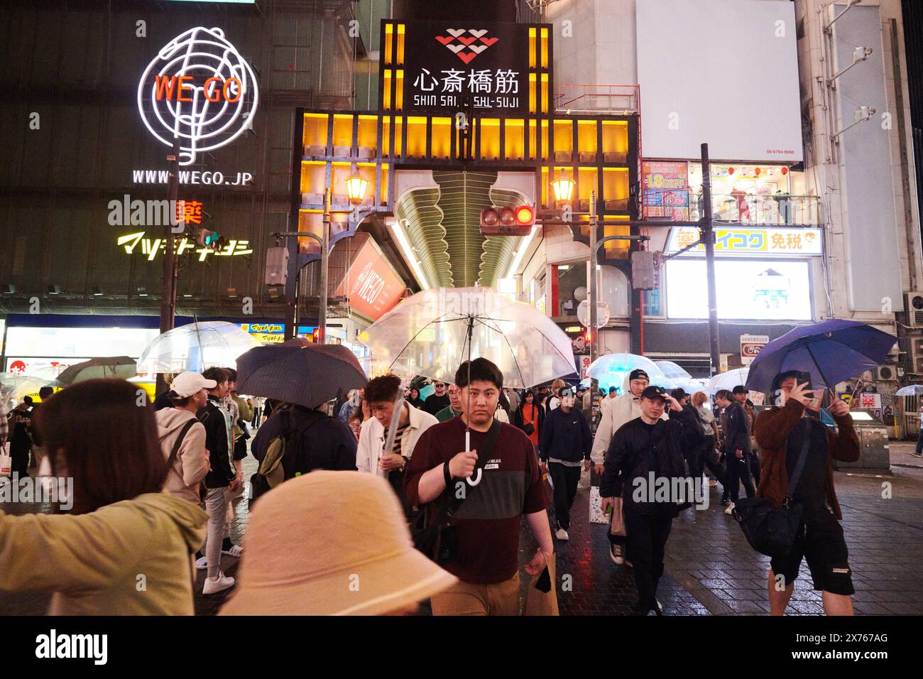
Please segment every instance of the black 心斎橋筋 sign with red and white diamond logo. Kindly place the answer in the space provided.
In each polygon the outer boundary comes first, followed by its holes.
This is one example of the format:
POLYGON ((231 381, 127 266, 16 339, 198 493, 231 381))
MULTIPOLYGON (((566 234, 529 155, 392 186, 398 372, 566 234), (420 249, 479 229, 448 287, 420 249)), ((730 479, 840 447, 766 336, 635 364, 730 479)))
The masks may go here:
POLYGON ((407 111, 525 112, 528 27, 466 21, 408 21, 403 102, 407 111))

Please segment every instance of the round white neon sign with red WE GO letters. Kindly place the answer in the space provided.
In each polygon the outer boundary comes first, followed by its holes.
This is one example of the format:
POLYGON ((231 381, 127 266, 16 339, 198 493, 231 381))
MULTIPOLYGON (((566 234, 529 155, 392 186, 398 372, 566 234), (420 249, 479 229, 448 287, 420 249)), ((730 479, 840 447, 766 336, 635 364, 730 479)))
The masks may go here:
POLYGON ((180 140, 181 165, 249 129, 258 99, 253 68, 217 28, 198 27, 175 37, 138 83, 141 120, 167 146, 180 140))

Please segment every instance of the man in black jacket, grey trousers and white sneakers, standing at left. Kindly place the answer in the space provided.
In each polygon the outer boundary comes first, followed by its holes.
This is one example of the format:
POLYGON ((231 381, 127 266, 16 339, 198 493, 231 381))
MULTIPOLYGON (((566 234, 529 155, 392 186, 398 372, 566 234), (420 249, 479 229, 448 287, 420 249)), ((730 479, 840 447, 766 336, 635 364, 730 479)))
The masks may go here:
POLYGON ((243 475, 234 467, 231 415, 222 407, 222 399, 228 394, 228 374, 221 368, 210 368, 202 373, 202 377, 214 382, 215 386, 209 389, 208 400, 198 411, 198 421, 205 427, 205 447, 209 450, 211 471, 205 477, 208 539, 205 556, 198 559, 196 567, 208 569, 202 593, 215 594, 234 587, 234 578, 225 576, 221 571, 221 559, 222 552, 231 556, 240 556, 241 553, 240 547, 231 542, 230 535, 225 535, 225 529, 230 496, 243 482, 243 475))

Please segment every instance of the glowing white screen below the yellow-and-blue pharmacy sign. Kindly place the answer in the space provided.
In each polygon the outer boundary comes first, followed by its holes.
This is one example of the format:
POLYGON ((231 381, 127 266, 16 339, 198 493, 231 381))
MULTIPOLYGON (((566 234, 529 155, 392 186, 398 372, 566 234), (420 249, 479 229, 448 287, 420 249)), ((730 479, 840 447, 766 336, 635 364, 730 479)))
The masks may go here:
MULTIPOLYGON (((666 318, 707 319, 705 261, 671 260, 665 268, 666 318)), ((811 320, 807 261, 718 260, 714 275, 721 321, 811 320)))

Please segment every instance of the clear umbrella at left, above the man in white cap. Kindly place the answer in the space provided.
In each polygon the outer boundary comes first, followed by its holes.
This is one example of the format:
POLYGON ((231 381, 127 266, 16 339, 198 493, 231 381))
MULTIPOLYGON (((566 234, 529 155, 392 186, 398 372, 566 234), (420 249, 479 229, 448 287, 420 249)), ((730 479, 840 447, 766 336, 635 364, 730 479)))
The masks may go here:
POLYGON ((138 358, 138 373, 234 366, 237 357, 254 346, 260 346, 259 342, 234 323, 189 323, 154 337, 138 358))

